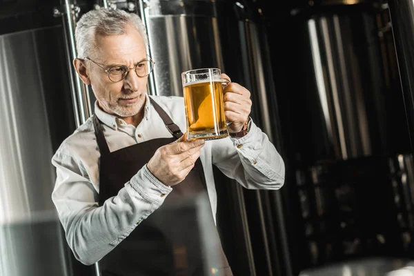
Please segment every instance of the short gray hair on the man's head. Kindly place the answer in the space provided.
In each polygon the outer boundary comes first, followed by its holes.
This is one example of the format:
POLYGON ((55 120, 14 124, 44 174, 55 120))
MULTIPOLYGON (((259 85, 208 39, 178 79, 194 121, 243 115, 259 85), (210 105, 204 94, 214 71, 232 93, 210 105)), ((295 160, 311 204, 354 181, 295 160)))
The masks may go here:
POLYGON ((89 57, 97 48, 95 36, 124 34, 127 26, 134 26, 148 47, 148 35, 144 23, 135 13, 124 10, 100 8, 81 16, 75 29, 77 57, 89 57))

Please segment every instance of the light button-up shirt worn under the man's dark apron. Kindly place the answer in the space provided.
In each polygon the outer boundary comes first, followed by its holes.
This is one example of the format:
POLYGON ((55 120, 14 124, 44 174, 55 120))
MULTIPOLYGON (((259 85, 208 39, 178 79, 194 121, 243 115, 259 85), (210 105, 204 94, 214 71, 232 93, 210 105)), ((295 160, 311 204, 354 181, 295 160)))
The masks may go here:
MULTIPOLYGON (((172 137, 148 97, 144 119, 137 128, 103 112, 95 103, 95 114, 103 123, 111 152, 151 139, 172 137)), ((150 97, 185 132, 183 97, 150 97)), ((206 141, 201 148, 200 159, 214 215, 217 194, 213 164, 224 175, 236 179, 248 189, 277 190, 284 184, 282 157, 267 135, 253 121, 250 122, 246 136, 206 141)), ((52 157, 57 172, 52 201, 70 248, 75 257, 87 265, 99 261, 128 237, 143 219, 163 204, 172 190, 159 182, 144 166, 119 190, 117 196, 105 201, 103 206, 98 206, 99 157, 92 117, 65 139, 52 157)))

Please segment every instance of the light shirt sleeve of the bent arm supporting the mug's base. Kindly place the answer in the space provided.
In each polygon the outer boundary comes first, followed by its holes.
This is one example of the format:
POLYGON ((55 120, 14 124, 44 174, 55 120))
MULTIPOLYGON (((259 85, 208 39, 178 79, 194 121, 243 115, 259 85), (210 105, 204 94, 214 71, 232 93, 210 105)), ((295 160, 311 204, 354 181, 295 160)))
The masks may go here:
POLYGON ((115 197, 99 206, 96 186, 80 161, 58 151, 52 164, 57 172, 52 201, 70 248, 86 265, 99 261, 128 237, 172 190, 144 166, 115 197))

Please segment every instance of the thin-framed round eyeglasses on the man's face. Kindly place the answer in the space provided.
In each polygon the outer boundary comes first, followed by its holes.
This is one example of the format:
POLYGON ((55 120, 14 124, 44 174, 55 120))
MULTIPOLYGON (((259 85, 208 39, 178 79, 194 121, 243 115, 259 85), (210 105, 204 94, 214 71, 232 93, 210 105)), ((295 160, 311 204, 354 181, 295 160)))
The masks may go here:
POLYGON ((88 59, 95 63, 97 66, 105 70, 106 74, 108 75, 108 79, 112 82, 118 82, 126 78, 128 75, 129 70, 134 69, 135 73, 137 73, 138 77, 146 77, 150 75, 150 72, 152 72, 152 69, 154 69, 155 62, 148 57, 149 59, 144 61, 139 61, 137 65, 133 68, 128 68, 128 66, 124 65, 115 65, 111 66, 109 69, 105 69, 105 65, 101 63, 97 63, 96 61, 92 61, 89 57, 86 57, 85 59, 88 59))

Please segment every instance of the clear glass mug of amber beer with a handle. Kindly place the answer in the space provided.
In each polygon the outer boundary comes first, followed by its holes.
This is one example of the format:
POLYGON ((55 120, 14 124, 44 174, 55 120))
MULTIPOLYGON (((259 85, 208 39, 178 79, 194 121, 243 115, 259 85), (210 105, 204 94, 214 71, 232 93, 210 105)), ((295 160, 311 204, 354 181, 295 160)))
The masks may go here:
POLYGON ((201 68, 181 73, 186 104, 187 139, 221 139, 228 137, 224 116, 223 86, 218 68, 201 68))

